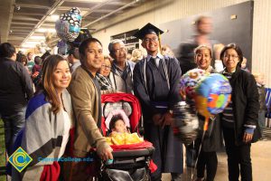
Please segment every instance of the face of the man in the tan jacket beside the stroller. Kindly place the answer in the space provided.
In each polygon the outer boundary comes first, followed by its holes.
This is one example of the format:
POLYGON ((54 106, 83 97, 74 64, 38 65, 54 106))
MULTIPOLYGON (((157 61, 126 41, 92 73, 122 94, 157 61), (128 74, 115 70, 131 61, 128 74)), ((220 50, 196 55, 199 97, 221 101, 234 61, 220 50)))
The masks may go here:
POLYGON ((97 72, 104 60, 103 49, 100 43, 89 43, 87 49, 85 50, 85 56, 82 58, 84 65, 89 71, 97 72))

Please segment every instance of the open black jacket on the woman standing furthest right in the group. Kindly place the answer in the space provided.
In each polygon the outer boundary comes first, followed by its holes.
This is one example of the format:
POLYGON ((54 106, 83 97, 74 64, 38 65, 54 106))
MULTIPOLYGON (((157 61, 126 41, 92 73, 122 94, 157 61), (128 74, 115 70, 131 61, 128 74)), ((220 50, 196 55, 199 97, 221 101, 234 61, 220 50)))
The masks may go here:
POLYGON ((243 144, 245 125, 256 125, 252 142, 260 138, 258 127, 258 91, 254 76, 237 67, 229 80, 232 87, 231 100, 234 116, 235 142, 243 144))

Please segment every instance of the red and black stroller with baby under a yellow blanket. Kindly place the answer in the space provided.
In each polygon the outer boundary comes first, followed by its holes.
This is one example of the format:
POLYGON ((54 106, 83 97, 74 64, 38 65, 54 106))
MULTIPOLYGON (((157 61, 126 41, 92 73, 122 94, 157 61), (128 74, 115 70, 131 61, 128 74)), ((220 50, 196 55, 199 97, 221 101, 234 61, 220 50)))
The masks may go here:
POLYGON ((102 95, 101 101, 101 131, 108 136, 114 160, 102 164, 100 180, 150 180, 154 148, 137 134, 141 118, 138 100, 131 94, 113 93, 102 95))

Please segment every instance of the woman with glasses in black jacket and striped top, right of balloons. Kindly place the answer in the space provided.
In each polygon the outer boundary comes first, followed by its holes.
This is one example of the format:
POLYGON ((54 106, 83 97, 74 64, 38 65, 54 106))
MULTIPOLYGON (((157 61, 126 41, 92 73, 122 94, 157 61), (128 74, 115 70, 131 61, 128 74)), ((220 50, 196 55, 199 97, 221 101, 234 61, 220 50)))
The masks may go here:
POLYGON ((241 70, 243 53, 230 43, 220 53, 226 67, 222 71, 232 87, 231 101, 221 113, 221 124, 228 155, 229 180, 252 180, 251 143, 260 138, 257 123, 259 108, 257 83, 252 74, 241 70))

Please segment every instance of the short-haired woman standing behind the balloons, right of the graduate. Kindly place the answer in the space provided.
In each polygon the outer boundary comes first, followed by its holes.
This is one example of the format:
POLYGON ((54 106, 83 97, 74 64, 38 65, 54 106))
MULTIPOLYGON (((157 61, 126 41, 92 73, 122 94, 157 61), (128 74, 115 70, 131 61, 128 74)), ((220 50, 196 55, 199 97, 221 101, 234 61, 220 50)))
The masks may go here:
MULTIPOLYGON (((207 71, 206 73, 216 73, 211 66, 211 49, 207 45, 200 45, 195 50, 194 60, 198 65, 198 69, 207 71)), ((200 130, 203 130, 204 117, 198 114, 200 130)), ((197 181, 204 180, 204 170, 206 167, 207 177, 206 181, 213 181, 218 167, 218 157, 216 151, 223 148, 222 135, 220 129, 220 119, 213 117, 209 119, 208 129, 203 136, 200 131, 198 138, 195 140, 196 148, 198 149, 197 162, 197 181), (201 145, 201 150, 199 146, 201 145)))

